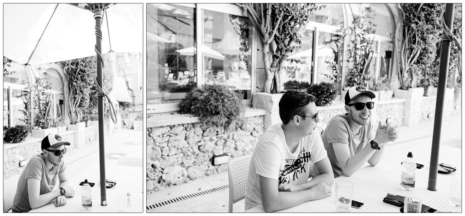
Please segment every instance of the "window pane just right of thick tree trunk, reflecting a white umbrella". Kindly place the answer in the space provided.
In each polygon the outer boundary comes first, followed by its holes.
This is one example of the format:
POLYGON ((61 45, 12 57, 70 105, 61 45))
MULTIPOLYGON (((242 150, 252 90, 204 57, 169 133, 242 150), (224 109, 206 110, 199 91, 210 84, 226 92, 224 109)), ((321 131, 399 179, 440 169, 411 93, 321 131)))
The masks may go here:
POLYGON ((300 41, 302 44, 297 50, 292 52, 288 59, 299 59, 300 62, 286 61, 284 63, 284 82, 295 79, 312 83, 313 68, 313 30, 306 29, 300 41))

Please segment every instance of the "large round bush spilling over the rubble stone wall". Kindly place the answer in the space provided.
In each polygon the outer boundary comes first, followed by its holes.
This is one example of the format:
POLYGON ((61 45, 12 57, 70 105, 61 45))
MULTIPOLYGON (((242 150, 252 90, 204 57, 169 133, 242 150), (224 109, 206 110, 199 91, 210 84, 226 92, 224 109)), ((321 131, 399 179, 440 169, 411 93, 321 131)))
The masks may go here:
POLYGON ((207 123, 229 129, 243 123, 245 110, 242 92, 226 85, 204 85, 187 92, 179 103, 180 113, 193 114, 207 123))

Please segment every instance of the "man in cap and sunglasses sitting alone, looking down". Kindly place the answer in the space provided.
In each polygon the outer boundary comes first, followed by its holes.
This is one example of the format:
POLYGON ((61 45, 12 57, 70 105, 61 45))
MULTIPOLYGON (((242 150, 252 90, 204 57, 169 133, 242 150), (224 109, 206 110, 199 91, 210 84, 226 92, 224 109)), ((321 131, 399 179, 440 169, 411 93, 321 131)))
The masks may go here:
POLYGON ((12 212, 28 212, 55 200, 55 206, 66 204, 66 196, 74 196, 74 189, 68 186, 66 165, 63 155, 65 145, 58 134, 49 134, 42 139, 42 153, 29 159, 20 175, 18 188, 13 199, 12 212), (53 190, 56 183, 60 189, 53 190))

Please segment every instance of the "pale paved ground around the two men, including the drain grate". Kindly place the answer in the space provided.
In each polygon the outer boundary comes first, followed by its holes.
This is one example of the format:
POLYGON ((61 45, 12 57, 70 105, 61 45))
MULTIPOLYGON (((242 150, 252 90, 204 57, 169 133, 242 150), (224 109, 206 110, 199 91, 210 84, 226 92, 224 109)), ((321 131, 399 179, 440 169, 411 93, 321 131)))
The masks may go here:
MULTIPOLYGON (((398 154, 402 149, 412 146, 431 148, 433 124, 434 119, 412 127, 399 127, 399 139, 385 148, 385 157, 398 154)), ((461 151, 462 116, 460 114, 443 118, 441 145, 461 151)), ((222 187, 225 185, 228 185, 227 172, 160 190, 147 195, 147 206, 155 206, 155 208, 149 207, 147 212, 228 212, 229 188, 222 187), (216 190, 212 192, 212 189, 216 190), (181 196, 188 198, 176 199, 181 196), (158 205, 160 207, 157 207, 158 205)), ((233 212, 242 211, 244 211, 244 200, 233 206, 233 212)))

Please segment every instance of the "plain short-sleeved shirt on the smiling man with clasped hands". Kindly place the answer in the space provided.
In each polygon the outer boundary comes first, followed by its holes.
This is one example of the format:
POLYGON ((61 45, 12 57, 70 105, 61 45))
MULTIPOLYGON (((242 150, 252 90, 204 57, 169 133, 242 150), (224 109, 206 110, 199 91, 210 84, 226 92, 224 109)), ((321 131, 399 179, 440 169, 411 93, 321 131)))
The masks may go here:
POLYGON ((353 133, 346 118, 350 117, 342 114, 331 118, 325 131, 321 134, 321 140, 328 153, 335 178, 344 175, 344 172, 339 166, 332 144, 342 143, 349 145, 349 153, 350 156, 353 157, 364 149, 367 144, 370 144, 370 141, 374 139, 376 134, 372 121, 370 121, 368 125, 362 125, 359 133, 353 133))

